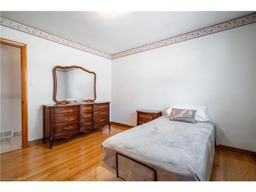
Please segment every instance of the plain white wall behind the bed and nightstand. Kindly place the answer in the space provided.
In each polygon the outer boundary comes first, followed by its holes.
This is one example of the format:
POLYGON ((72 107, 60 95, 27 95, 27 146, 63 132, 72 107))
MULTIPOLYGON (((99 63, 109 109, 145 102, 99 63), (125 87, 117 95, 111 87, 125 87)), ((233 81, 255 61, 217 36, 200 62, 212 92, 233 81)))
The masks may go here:
POLYGON ((255 26, 112 60, 112 121, 136 125, 138 109, 205 105, 220 144, 255 151, 255 26))

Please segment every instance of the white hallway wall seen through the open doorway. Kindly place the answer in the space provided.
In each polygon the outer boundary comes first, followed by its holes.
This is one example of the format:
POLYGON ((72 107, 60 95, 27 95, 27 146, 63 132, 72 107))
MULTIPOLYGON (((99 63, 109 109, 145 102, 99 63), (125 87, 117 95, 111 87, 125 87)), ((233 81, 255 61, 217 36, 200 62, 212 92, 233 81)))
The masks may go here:
POLYGON ((20 49, 1 44, 1 131, 22 131, 20 49))

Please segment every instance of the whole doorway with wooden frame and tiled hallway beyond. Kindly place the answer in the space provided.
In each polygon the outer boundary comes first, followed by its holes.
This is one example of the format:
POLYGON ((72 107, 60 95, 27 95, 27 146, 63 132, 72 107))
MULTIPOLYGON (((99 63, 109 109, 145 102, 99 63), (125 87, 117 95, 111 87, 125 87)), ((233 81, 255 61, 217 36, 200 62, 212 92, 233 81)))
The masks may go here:
POLYGON ((28 147, 27 45, 1 37, 0 41, 3 154, 28 147))

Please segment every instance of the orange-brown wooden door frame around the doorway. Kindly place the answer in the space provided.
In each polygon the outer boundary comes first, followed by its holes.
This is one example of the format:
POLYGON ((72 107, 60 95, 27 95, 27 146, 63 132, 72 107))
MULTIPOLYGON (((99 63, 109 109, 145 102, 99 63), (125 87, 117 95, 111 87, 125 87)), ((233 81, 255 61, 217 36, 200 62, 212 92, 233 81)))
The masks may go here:
POLYGON ((0 37, 3 45, 20 48, 22 80, 22 147, 28 147, 27 44, 0 37))

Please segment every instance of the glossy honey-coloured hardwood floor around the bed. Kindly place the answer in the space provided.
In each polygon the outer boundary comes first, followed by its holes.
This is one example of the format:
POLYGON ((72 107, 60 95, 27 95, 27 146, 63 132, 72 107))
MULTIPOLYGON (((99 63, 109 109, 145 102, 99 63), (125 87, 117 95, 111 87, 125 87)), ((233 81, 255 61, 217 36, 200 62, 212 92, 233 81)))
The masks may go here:
MULTIPOLYGON (((31 146, 1 155, 1 178, 27 181, 118 181, 101 167, 101 143, 127 127, 81 133, 69 139, 31 146)), ((256 181, 256 160, 216 150, 211 181, 256 181)))

